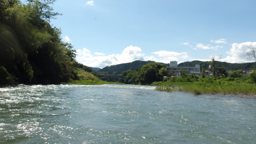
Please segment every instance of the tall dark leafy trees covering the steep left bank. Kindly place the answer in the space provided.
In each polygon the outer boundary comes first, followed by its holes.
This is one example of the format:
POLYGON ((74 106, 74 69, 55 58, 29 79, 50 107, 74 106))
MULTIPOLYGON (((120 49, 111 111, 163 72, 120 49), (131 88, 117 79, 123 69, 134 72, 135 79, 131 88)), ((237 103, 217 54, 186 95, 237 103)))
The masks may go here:
POLYGON ((88 69, 49 24, 59 15, 54 1, 0 0, 0 84, 66 82, 79 79, 77 68, 88 69))

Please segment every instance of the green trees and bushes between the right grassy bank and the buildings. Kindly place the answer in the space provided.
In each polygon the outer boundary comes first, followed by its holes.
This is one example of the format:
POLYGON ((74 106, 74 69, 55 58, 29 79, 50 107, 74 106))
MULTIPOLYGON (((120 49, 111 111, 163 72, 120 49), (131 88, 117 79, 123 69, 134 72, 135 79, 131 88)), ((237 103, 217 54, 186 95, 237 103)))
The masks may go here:
MULTIPOLYGON (((202 64, 202 67, 204 67, 204 64, 202 64)), ((172 71, 168 72, 165 64, 155 62, 143 65, 138 70, 130 69, 123 71, 120 75, 124 78, 119 79, 118 82, 143 85, 158 85, 168 82, 206 82, 207 80, 207 82, 216 81, 218 83, 224 81, 229 81, 229 83, 230 81, 248 84, 256 83, 256 71, 252 71, 248 76, 243 76, 243 70, 241 69, 232 70, 231 72, 227 72, 227 70, 223 66, 216 67, 214 69, 215 72, 213 75, 205 75, 205 73, 203 72, 203 74, 199 77, 194 75, 193 73, 187 74, 186 71, 180 69, 179 72, 181 73, 181 77, 170 77, 170 73, 172 71), (169 77, 167 77, 167 75, 169 77)), ((204 68, 202 69, 202 71, 204 71, 204 68)))

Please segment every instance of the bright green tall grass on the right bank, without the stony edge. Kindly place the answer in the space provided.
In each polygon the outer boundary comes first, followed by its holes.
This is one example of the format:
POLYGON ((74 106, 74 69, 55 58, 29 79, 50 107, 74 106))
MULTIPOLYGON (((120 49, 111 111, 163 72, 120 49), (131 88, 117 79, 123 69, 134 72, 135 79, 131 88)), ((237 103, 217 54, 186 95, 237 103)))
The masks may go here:
POLYGON ((212 80, 203 79, 192 81, 192 82, 171 82, 168 80, 166 82, 153 83, 157 85, 156 90, 160 91, 184 91, 191 92, 194 94, 256 94, 256 84, 248 83, 246 80, 212 80), (205 82, 207 81, 208 82, 205 82))

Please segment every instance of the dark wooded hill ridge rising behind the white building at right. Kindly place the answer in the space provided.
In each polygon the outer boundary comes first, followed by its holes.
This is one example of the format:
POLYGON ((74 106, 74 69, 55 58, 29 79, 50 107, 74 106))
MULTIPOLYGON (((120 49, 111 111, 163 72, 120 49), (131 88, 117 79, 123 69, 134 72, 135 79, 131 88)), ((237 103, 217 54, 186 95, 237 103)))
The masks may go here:
MULTIPOLYGON (((210 61, 199 61, 199 60, 186 61, 186 62, 179 63, 178 66, 179 67, 194 66, 195 64, 200 64, 200 67, 202 64, 205 64, 204 68, 207 69, 210 65, 210 61)), ((255 68, 255 64, 256 64, 255 62, 228 63, 224 61, 216 61, 215 67, 224 66, 226 70, 235 70, 235 69, 249 70, 249 69, 255 68)))

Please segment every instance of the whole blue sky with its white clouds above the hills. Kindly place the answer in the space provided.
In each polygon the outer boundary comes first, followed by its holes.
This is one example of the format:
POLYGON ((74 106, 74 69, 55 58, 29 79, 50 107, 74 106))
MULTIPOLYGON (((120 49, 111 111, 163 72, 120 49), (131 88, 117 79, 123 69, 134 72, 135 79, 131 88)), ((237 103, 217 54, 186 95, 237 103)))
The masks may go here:
POLYGON ((103 68, 153 60, 253 62, 256 0, 56 0, 61 29, 76 60, 103 68))

